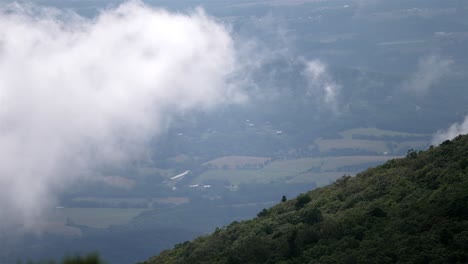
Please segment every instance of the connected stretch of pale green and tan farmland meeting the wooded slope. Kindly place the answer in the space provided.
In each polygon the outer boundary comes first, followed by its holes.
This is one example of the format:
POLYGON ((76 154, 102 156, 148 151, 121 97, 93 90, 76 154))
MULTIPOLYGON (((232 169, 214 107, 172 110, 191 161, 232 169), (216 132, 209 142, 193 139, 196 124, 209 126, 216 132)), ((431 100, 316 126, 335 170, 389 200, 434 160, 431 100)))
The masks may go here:
POLYGON ((370 166, 401 157, 409 149, 423 149, 428 145, 427 135, 377 128, 354 128, 338 135, 315 139, 308 148, 318 149, 319 153, 312 156, 279 159, 220 157, 206 162, 204 165, 208 170, 195 177, 192 183, 218 180, 239 185, 284 181, 314 182, 322 186, 343 174, 354 175, 370 166))

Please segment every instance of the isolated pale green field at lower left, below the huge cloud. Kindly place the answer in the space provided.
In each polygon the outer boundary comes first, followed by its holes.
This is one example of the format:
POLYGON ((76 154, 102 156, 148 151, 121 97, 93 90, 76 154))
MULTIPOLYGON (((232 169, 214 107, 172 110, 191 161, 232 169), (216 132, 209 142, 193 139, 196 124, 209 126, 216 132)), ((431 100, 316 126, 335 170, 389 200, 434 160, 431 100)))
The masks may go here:
POLYGON ((72 222, 94 228, 107 228, 122 225, 147 209, 136 208, 61 208, 50 213, 50 223, 72 222))

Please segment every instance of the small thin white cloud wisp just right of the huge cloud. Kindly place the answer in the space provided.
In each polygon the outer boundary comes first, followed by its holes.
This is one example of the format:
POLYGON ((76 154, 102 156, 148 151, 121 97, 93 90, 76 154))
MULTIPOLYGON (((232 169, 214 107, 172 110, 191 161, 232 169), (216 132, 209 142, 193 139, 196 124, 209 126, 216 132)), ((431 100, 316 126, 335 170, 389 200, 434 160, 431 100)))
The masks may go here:
POLYGON ((341 87, 330 77, 326 65, 319 60, 308 61, 305 64, 304 74, 309 83, 309 94, 317 98, 321 107, 338 113, 341 87))

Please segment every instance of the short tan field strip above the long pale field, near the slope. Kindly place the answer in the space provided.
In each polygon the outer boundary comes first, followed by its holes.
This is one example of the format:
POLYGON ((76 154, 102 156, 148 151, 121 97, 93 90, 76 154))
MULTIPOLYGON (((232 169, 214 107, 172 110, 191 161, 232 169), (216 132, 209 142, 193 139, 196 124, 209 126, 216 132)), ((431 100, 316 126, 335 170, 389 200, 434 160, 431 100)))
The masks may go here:
POLYGON ((317 139, 315 144, 319 147, 320 152, 327 152, 338 149, 356 149, 371 151, 377 153, 389 152, 387 143, 379 140, 361 140, 361 139, 317 139))

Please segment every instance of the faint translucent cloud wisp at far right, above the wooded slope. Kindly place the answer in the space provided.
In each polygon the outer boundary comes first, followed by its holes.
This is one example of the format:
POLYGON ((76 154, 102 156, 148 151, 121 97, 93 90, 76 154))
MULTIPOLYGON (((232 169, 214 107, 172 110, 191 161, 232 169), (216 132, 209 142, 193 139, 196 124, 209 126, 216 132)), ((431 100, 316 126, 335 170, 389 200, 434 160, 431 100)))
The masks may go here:
POLYGON ((450 73, 453 61, 437 55, 430 55, 419 60, 416 72, 403 84, 407 91, 417 94, 427 93, 437 82, 450 73))

